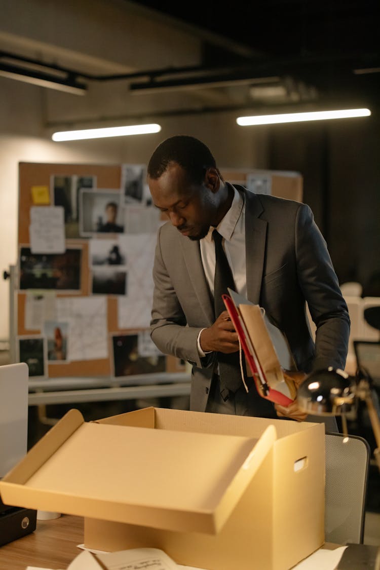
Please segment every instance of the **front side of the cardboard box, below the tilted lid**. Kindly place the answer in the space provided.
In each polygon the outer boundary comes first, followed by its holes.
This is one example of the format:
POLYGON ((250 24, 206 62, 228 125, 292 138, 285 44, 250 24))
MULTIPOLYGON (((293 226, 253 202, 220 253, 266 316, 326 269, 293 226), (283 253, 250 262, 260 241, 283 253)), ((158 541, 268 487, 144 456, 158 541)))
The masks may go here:
MULTIPOLYGON (((85 546, 105 551, 161 548, 178 564, 209 570, 273 570, 272 471, 273 449, 216 535, 164 531, 85 518, 85 546)), ((281 570, 288 568, 284 566, 281 570)))

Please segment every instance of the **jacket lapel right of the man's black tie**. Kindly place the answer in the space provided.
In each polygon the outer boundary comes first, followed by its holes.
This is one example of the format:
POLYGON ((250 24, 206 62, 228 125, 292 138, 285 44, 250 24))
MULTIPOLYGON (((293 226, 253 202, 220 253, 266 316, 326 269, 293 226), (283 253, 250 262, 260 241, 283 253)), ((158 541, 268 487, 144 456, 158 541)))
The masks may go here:
POLYGON ((259 304, 263 279, 267 222, 259 218, 263 206, 258 197, 245 190, 246 197, 246 275, 247 298, 259 304))

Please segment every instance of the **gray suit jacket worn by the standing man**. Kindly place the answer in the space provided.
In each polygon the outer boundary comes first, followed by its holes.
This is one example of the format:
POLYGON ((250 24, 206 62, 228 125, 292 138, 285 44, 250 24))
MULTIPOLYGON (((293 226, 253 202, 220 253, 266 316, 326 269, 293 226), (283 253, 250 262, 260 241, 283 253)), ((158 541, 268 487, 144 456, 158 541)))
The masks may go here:
MULTIPOLYGON (((344 368, 350 319, 324 238, 309 206, 236 186, 246 203, 247 297, 285 333, 299 370, 344 368), (305 301, 316 324, 314 346, 305 301)), ((190 408, 204 411, 215 353, 201 359, 197 337, 214 322, 199 242, 170 223, 158 231, 152 340, 193 365, 190 408)))

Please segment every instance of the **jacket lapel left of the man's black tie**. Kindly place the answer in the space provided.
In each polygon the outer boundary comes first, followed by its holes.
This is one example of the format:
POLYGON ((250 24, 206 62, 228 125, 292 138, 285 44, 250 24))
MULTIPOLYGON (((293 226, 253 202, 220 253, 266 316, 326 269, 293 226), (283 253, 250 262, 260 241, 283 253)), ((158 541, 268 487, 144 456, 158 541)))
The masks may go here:
POLYGON ((203 271, 199 241, 191 241, 189 238, 181 237, 181 246, 187 272, 189 273, 191 284, 197 295, 199 306, 211 325, 215 320, 214 308, 211 303, 211 295, 205 272, 203 271))

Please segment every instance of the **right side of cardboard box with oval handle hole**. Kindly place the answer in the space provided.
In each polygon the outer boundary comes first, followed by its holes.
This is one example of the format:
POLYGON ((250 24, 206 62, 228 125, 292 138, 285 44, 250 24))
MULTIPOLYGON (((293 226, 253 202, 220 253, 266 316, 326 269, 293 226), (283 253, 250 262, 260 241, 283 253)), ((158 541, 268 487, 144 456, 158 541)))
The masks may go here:
POLYGON ((324 424, 274 447, 273 568, 291 568, 324 543, 324 424))

